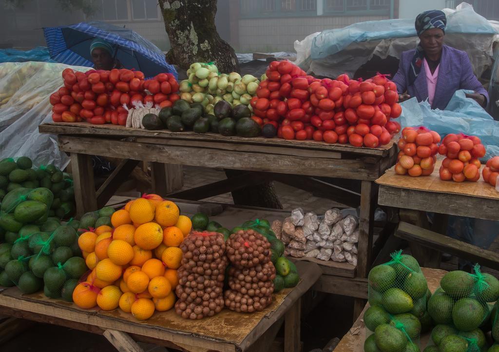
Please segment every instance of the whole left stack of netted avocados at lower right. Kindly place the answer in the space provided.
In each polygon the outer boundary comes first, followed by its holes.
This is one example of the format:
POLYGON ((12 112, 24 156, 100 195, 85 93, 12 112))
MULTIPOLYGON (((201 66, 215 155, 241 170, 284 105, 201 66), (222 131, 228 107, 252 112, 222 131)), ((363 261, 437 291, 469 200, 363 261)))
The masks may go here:
POLYGON ((431 292, 414 257, 396 252, 392 261, 371 269, 364 314, 367 329, 374 332, 364 351, 420 351, 419 336, 432 325, 427 312, 431 292))

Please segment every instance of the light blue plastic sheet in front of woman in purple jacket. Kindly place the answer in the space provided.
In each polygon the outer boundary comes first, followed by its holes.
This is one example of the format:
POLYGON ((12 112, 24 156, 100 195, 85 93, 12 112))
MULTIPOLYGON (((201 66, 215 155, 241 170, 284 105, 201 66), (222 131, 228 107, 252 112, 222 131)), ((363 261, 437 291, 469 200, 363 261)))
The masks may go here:
POLYGON ((499 155, 499 121, 495 121, 475 100, 458 90, 445 110, 432 110, 428 101, 418 103, 416 98, 401 103, 400 124, 425 126, 440 135, 461 133, 478 136, 487 149, 486 159, 499 155))

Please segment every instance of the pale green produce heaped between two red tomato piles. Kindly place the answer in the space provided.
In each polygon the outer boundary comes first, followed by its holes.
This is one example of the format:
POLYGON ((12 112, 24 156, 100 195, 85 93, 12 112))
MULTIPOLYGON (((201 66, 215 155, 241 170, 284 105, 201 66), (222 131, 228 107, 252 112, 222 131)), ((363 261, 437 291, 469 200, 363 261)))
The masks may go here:
POLYGON ((226 101, 232 106, 240 104, 250 106, 251 98, 256 94, 260 81, 238 72, 221 73, 213 63, 195 62, 187 70, 188 79, 180 82, 180 98, 189 103, 197 102, 211 112, 219 101, 226 101))

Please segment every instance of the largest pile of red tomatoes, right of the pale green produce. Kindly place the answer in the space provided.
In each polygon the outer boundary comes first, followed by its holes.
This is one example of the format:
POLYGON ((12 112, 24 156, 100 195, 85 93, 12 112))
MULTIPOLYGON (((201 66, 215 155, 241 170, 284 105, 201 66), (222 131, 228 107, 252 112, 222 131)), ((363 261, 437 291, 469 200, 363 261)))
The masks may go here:
POLYGON ((400 131, 391 121, 402 112, 397 87, 385 75, 318 79, 289 61, 273 61, 266 76, 251 99, 252 118, 272 124, 279 138, 377 148, 400 131))

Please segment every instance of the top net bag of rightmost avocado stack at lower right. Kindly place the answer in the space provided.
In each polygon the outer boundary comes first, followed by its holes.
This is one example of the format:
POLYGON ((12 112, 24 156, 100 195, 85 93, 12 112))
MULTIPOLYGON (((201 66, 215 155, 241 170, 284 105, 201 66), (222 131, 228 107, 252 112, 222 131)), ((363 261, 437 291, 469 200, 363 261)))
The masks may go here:
POLYGON ((491 314, 489 303, 499 298, 499 281, 480 271, 447 273, 440 288, 428 301, 428 313, 436 324, 453 324, 461 332, 470 332, 485 325, 491 314))

